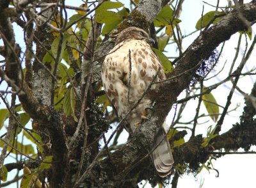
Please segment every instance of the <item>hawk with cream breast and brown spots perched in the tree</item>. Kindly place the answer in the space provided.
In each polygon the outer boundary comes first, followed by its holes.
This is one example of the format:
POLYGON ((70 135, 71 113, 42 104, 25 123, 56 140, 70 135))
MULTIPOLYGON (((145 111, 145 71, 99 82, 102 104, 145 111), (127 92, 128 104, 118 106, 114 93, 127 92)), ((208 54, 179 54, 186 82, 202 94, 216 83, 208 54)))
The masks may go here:
MULTIPOLYGON (((139 27, 127 27, 116 35, 115 47, 107 54, 102 64, 102 86, 113 105, 118 118, 125 119, 125 129, 131 135, 140 126, 154 101, 160 83, 166 79, 163 66, 152 51, 154 42, 148 33, 139 27), (150 86, 147 93, 145 91, 150 86), (140 100, 138 105, 132 106, 140 100), (132 111, 131 111, 132 109, 132 111), (126 115, 127 113, 131 113, 126 115)), ((151 145, 150 157, 159 176, 172 173, 173 156, 166 136, 166 123, 160 126, 151 145)))

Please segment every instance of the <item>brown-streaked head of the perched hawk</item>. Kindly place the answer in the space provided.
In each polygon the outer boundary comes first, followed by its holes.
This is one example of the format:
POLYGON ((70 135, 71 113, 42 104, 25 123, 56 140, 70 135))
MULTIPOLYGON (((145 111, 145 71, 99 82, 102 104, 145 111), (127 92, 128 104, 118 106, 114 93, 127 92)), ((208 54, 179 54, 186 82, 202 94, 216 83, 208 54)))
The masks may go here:
POLYGON ((143 40, 150 44, 155 42, 154 39, 148 36, 148 33, 146 31, 138 27, 127 27, 126 29, 118 33, 115 45, 127 40, 143 40))

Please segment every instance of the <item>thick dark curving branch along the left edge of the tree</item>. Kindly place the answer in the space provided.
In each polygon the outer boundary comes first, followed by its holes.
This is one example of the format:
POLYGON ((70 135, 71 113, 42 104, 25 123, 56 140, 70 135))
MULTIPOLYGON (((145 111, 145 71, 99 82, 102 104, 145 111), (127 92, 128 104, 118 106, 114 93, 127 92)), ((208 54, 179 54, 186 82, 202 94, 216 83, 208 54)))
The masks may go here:
MULTIPOLYGON (((28 3, 29 1, 22 2, 28 3)), ((40 93, 40 95, 34 95, 33 91, 29 88, 28 84, 23 79, 21 63, 19 59, 19 45, 15 43, 12 23, 10 22, 10 19, 6 17, 3 11, 4 8, 7 8, 7 6, 8 4, 6 6, 3 6, 3 3, 0 3, 0 33, 4 40, 6 75, 8 79, 15 81, 15 85, 18 86, 19 90, 16 90, 16 92, 19 97, 20 103, 22 104, 22 107, 26 111, 26 113, 28 113, 29 116, 33 118, 33 120, 41 123, 41 125, 43 126, 40 128, 42 130, 47 129, 49 131, 49 134, 51 135, 51 151, 52 155, 54 156, 53 160, 56 161, 56 163, 52 164, 52 176, 50 181, 52 187, 58 187, 61 184, 67 183, 65 182, 65 180, 67 180, 67 178, 65 178, 65 175, 68 176, 69 168, 69 161, 67 160, 68 152, 66 145, 67 137, 65 137, 64 129, 65 126, 61 114, 52 109, 51 107, 47 106, 45 102, 38 102, 36 97, 39 97, 42 93, 40 93)), ((46 33, 49 32, 47 31, 46 33)), ((44 37, 47 38, 46 36, 44 37)), ((41 56, 38 57, 42 59, 41 57, 44 57, 44 54, 40 55, 41 56)), ((36 73, 38 72, 39 71, 36 71, 36 73)), ((48 77, 45 79, 45 81, 48 81, 48 77)), ((42 86, 42 82, 40 82, 40 86, 42 86)), ((44 88, 44 90, 47 90, 47 88, 44 88)), ((49 100, 49 98, 47 100, 49 100)))

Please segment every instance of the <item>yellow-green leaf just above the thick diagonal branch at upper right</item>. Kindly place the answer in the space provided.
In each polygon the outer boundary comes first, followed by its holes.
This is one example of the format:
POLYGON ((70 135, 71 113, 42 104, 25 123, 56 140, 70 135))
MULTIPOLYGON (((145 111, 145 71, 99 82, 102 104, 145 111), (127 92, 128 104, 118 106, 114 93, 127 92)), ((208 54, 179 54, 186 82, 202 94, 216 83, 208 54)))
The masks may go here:
MULTIPOLYGON (((202 18, 200 18, 196 22, 196 29, 199 30, 199 29, 206 27, 209 24, 209 22, 214 18, 214 15, 215 15, 215 11, 210 11, 210 12, 205 13, 205 15, 203 16, 203 20, 202 20, 202 18)), ((212 24, 216 24, 220 19, 222 19, 222 17, 225 15, 225 13, 224 12, 216 12, 216 15, 218 15, 220 17, 217 17, 216 19, 214 19, 212 24)))

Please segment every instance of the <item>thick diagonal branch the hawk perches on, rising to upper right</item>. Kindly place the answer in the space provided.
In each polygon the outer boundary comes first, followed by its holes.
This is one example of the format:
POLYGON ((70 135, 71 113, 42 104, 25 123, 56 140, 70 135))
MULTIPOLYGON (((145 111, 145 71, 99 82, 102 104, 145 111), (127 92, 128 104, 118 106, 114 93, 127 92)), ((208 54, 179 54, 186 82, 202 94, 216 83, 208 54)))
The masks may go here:
MULTIPOLYGON (((239 13, 242 13, 243 17, 248 20, 248 22, 255 22, 256 1, 241 6, 239 13)), ((189 87, 189 83, 195 76, 196 70, 200 64, 211 56, 212 51, 214 51, 221 42, 228 40, 230 36, 234 35, 237 31, 247 28, 243 20, 239 18, 239 13, 236 10, 228 13, 220 22, 202 32, 201 35, 196 38, 188 47, 184 56, 180 58, 179 64, 175 70, 169 75, 170 81, 165 82, 161 87, 159 96, 156 98, 154 112, 149 116, 151 121, 143 123, 143 125, 132 134, 127 144, 113 153, 112 159, 114 159, 115 164, 111 164, 107 158, 95 165, 95 168, 96 166, 97 168, 104 166, 107 171, 106 176, 108 176, 109 179, 108 183, 115 181, 115 177, 125 171, 129 164, 138 161, 141 158, 141 153, 147 153, 145 149, 148 148, 149 143, 152 143, 154 132, 157 132, 159 125, 163 123, 179 94, 189 87)), ((198 161, 205 162, 207 155, 205 149, 202 150, 201 143, 202 137, 192 137, 188 143, 185 143, 179 148, 175 148, 173 156, 175 162, 188 162, 191 168, 196 168, 198 161), (198 156, 201 157, 198 158, 198 156)), ((223 145, 220 146, 220 148, 223 147, 223 145)), ((104 184, 103 182, 99 182, 99 184, 100 183, 104 184)))

